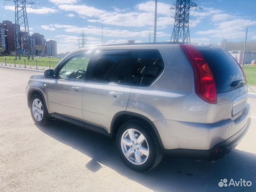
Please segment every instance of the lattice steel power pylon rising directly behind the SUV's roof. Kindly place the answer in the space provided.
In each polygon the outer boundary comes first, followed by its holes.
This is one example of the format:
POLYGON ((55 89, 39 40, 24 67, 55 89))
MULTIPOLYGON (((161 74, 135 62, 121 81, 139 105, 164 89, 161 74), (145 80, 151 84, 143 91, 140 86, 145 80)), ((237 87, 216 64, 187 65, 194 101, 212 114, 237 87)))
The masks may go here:
POLYGON ((176 9, 174 29, 171 35, 171 42, 180 42, 190 44, 190 33, 189 33, 189 10, 192 7, 202 9, 197 4, 190 0, 177 0, 176 5, 170 9, 176 9))

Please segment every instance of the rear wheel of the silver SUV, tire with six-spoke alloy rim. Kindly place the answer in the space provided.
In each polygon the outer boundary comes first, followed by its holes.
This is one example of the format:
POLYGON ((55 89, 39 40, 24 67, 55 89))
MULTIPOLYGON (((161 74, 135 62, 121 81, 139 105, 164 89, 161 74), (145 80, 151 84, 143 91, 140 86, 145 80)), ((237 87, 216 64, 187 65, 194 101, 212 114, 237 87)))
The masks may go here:
POLYGON ((163 157, 153 130, 139 119, 132 119, 121 125, 116 145, 122 161, 135 171, 149 171, 163 157))

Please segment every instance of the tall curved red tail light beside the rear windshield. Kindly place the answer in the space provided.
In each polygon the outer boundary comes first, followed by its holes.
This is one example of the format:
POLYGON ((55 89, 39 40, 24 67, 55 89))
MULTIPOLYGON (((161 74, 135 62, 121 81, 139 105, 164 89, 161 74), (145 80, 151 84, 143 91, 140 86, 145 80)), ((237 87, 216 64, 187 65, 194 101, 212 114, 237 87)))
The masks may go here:
POLYGON ((194 70, 196 94, 207 103, 217 104, 217 90, 212 71, 203 55, 192 45, 180 45, 194 70))

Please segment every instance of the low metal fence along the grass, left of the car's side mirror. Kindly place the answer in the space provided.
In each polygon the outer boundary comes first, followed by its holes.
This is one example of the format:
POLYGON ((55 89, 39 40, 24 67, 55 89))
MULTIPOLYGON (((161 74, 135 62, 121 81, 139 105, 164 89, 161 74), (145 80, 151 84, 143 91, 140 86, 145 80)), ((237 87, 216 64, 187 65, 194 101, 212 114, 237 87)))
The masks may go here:
POLYGON ((0 58, 0 65, 12 66, 26 69, 47 70, 54 68, 58 61, 0 58))

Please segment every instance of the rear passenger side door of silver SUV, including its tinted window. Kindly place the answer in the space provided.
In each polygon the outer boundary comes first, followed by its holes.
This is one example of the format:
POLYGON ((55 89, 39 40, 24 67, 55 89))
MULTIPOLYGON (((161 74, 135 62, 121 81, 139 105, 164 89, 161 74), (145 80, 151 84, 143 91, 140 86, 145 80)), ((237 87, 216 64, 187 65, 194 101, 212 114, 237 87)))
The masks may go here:
POLYGON ((128 50, 96 51, 82 97, 83 117, 87 123, 110 132, 113 116, 126 111, 131 89, 129 60, 128 50))

